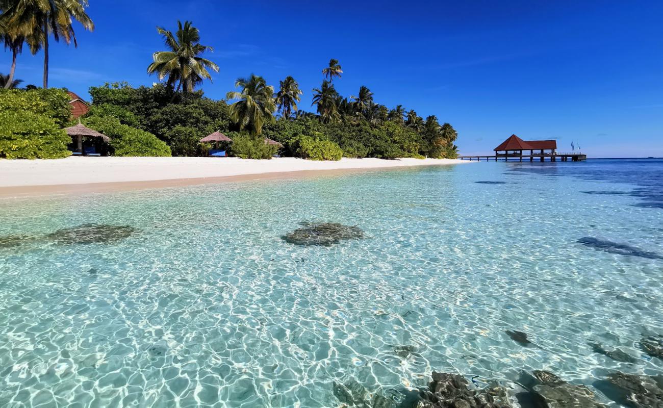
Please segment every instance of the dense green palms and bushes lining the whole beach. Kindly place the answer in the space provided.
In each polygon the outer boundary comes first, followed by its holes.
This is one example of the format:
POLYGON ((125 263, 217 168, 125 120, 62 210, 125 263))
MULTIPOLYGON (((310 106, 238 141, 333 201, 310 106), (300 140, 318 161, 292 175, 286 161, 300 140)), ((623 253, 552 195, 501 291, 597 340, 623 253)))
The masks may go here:
MULTIPOLYGON (((11 121, 5 128, 12 138, 56 137, 57 132, 53 133, 46 122, 58 128, 70 123, 66 93, 45 89, 48 40, 52 36, 76 45, 74 20, 85 29, 94 28, 86 7, 87 0, 0 0, 0 40, 13 56, 11 71, 0 76, 0 86, 15 88, 20 83, 14 79, 14 73, 24 45, 33 54, 44 50, 44 90, 28 86, 30 90, 7 90, 0 97, 0 112, 26 111, 39 116, 34 126, 28 126, 27 119, 20 114, 5 115, 11 121), (37 125, 44 129, 40 131, 37 125), (29 131, 35 133, 28 135, 29 131)), ((441 125, 436 116, 424 120, 414 110, 406 113, 402 105, 389 109, 375 102, 367 86, 361 86, 356 96, 341 96, 333 80, 340 80, 343 70, 334 58, 322 69, 320 86, 312 90, 311 106, 316 107, 316 113, 298 109, 303 92, 292 76, 281 80, 275 93, 265 78, 251 74, 239 78, 235 82, 237 89, 227 92, 225 100, 215 101, 204 97, 202 90, 196 90, 204 80, 211 80, 210 71, 219 71, 214 62, 202 57, 211 47, 200 44, 198 29, 190 21, 178 21, 174 33, 161 27, 157 32, 163 36, 167 50, 152 54, 147 72, 155 74, 162 83, 133 88, 119 82, 90 88, 92 104, 82 120, 88 127, 111 137, 109 146, 99 146, 105 153, 206 155, 210 145, 201 144, 200 139, 221 131, 237 139, 230 153, 238 157, 272 157, 277 148, 265 146, 265 137, 282 143, 281 155, 312 160, 338 160, 343 156, 383 159, 457 156, 456 131, 448 123, 441 125), (274 117, 277 111, 278 119, 274 117)), ((64 152, 54 153, 57 149, 52 147, 48 149, 50 153, 44 156, 64 155, 64 152)), ((40 157, 37 153, 21 155, 40 157)))

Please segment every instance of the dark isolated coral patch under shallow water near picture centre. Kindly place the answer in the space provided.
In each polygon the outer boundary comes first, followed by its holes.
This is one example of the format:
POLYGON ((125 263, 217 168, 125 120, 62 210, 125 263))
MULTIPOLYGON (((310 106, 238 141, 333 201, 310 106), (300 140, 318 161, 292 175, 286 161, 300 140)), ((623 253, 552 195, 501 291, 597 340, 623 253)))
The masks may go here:
POLYGON ((344 226, 334 222, 302 222, 304 228, 298 228, 281 237, 294 245, 324 245, 339 243, 343 239, 364 238, 364 232, 356 226, 344 226))

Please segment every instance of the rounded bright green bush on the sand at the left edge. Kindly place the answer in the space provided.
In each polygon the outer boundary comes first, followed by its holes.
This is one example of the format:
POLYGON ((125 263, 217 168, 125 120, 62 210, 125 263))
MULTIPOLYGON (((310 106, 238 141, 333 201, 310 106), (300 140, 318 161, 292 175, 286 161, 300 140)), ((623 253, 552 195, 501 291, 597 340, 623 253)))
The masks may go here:
POLYGON ((0 111, 0 157, 5 159, 62 159, 72 153, 72 139, 60 126, 30 111, 0 111))

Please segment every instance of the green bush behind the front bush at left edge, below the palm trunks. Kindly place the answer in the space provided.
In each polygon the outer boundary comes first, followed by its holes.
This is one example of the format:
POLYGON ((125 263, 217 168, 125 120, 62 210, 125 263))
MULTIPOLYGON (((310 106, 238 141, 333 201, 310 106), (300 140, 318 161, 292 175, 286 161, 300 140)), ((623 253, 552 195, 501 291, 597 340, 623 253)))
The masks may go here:
POLYGON ((0 111, 32 112, 64 127, 72 115, 70 98, 63 89, 1 90, 0 111))

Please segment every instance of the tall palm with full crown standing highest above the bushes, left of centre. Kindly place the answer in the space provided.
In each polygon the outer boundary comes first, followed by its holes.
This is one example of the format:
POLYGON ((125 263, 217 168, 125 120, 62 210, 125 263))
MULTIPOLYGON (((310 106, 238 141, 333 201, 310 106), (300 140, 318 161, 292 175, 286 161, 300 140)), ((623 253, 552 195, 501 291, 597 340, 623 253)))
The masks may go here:
MULTIPOLYGON (((168 77, 166 84, 174 87, 184 94, 193 92, 203 80, 211 81, 208 68, 219 72, 219 66, 199 55, 205 51, 212 51, 211 46, 201 45, 200 31, 192 26, 190 21, 177 22, 177 31, 173 35, 170 31, 157 27, 156 31, 164 36, 166 46, 170 51, 157 51, 152 54, 154 62, 147 67, 148 74, 157 74, 159 80, 168 77)), ((174 99, 173 95, 173 99, 174 99)))

